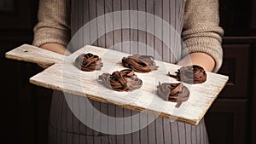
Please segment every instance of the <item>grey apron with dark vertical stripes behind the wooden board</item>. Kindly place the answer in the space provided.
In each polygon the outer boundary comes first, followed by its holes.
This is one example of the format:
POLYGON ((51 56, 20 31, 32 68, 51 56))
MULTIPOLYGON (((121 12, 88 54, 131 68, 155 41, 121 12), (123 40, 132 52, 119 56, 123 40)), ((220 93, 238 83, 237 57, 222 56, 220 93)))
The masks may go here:
MULTIPOLYGON (((157 60, 175 63, 179 59, 181 46, 178 34, 182 32, 183 8, 182 0, 71 0, 71 29, 73 41, 69 44, 71 50, 92 44, 107 49, 119 50, 130 54, 152 55, 157 60), (147 12, 145 15, 121 13, 120 10, 137 10, 147 12), (112 18, 106 19, 104 14, 117 12, 112 18), (152 19, 154 15, 154 19, 152 19), (99 16, 103 15, 103 19, 99 16), (159 20, 160 18, 161 20, 159 20), (94 20, 94 23, 88 23, 94 20), (165 27, 165 22, 172 28, 165 27), (84 26, 88 24, 89 26, 84 26), (107 32, 113 27, 141 27, 138 29, 118 29, 107 32), (80 31, 79 31, 80 30, 80 31), (143 31, 144 30, 144 31, 143 31), (79 33, 76 33, 78 32, 79 33), (105 34, 101 35, 101 32, 105 34), (95 39, 95 37, 97 37, 95 39), (137 43, 138 42, 138 43, 137 43), (169 45, 169 46, 168 46, 169 45), (171 49, 170 49, 171 47, 171 49), (176 57, 175 57, 176 56, 176 57)), ((92 130, 73 115, 71 109, 76 111, 88 108, 88 103, 81 102, 82 97, 67 96, 68 101, 79 104, 67 105, 65 96, 60 91, 54 91, 49 118, 49 144, 207 144, 207 130, 204 120, 197 126, 171 122, 166 118, 156 118, 149 124, 153 115, 140 114, 139 123, 130 125, 148 126, 131 134, 108 135, 92 130)), ((129 117, 137 114, 125 108, 98 101, 90 102, 98 111, 112 117, 129 117)), ((114 123, 110 120, 103 121, 101 116, 90 111, 81 111, 80 118, 84 118, 93 127, 111 130, 114 123), (102 127, 101 127, 102 126, 102 127)), ((134 119, 133 119, 134 120, 134 119)), ((119 127, 127 128, 120 124, 119 127)), ((128 129, 133 129, 132 127, 128 129)), ((116 130, 118 132, 118 130, 116 130)))

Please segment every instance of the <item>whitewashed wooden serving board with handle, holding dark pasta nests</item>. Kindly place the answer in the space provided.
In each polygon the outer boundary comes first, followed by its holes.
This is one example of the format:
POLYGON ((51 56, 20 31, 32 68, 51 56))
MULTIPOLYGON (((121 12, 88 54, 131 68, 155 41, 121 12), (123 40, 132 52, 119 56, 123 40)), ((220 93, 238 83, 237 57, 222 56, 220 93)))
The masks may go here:
POLYGON ((159 69, 154 72, 138 73, 143 80, 141 89, 131 92, 117 92, 106 88, 98 80, 103 72, 112 73, 125 69, 121 60, 129 54, 86 45, 72 55, 63 56, 24 44, 6 53, 6 57, 38 64, 50 64, 49 68, 30 78, 32 84, 49 89, 61 90, 70 94, 86 96, 91 100, 109 102, 119 107, 135 111, 143 111, 170 118, 187 124, 196 125, 204 117, 228 81, 228 77, 207 72, 207 81, 203 84, 184 84, 189 88, 189 100, 177 108, 176 102, 164 101, 157 94, 160 83, 177 83, 175 78, 167 76, 168 72, 177 72, 181 66, 155 60, 159 69), (74 60, 82 53, 92 53, 102 58, 103 67, 100 71, 83 72, 74 66, 74 60))

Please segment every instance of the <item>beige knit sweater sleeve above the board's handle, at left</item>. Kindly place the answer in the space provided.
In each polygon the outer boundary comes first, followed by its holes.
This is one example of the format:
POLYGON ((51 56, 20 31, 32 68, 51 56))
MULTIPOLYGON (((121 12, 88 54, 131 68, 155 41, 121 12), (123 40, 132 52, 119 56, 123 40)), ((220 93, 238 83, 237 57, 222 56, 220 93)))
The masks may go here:
POLYGON ((32 44, 59 43, 67 46, 70 40, 69 0, 40 0, 38 24, 34 26, 32 44))

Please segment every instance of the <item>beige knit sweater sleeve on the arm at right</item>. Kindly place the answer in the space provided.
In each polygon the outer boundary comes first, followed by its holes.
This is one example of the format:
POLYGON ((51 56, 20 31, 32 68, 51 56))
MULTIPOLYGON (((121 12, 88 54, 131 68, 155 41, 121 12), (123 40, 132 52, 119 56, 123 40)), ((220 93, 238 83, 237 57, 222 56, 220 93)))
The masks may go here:
POLYGON ((215 60, 213 72, 222 65, 223 29, 219 25, 218 0, 187 0, 183 25, 183 56, 202 52, 215 60))

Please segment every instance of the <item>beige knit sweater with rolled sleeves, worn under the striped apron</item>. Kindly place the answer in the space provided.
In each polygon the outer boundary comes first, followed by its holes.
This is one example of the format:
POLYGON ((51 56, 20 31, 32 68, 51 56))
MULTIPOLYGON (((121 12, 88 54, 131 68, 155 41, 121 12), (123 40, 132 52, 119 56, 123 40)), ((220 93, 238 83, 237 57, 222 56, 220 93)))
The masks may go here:
MULTIPOLYGON (((186 0, 183 42, 189 53, 211 55, 216 62, 213 72, 218 72, 223 57, 221 42, 224 31, 218 25, 218 0, 186 0)), ((67 46, 69 40, 70 17, 66 0, 40 0, 32 44, 60 43, 67 46)))

